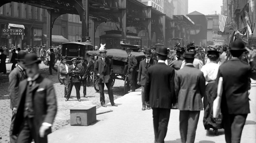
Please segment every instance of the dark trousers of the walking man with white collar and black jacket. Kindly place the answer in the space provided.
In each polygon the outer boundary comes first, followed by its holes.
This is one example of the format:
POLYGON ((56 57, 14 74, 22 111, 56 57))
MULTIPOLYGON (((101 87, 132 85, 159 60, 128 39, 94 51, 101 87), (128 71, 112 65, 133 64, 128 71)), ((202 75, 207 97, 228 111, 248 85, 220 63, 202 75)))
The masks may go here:
POLYGON ((163 143, 167 133, 167 126, 170 118, 170 109, 152 108, 155 142, 163 143))

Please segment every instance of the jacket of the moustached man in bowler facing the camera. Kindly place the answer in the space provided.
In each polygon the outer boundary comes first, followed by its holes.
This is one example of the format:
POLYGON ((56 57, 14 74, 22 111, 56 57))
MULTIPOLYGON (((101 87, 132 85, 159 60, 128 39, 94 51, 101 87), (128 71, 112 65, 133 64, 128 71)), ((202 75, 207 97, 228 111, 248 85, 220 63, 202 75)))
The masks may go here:
POLYGON ((146 63, 146 59, 142 60, 140 62, 140 67, 139 67, 139 73, 138 73, 138 80, 141 82, 141 85, 144 86, 145 82, 146 82, 146 76, 147 76, 147 69, 151 66, 153 66, 154 64, 156 64, 157 62, 153 59, 150 59, 148 66, 146 63))

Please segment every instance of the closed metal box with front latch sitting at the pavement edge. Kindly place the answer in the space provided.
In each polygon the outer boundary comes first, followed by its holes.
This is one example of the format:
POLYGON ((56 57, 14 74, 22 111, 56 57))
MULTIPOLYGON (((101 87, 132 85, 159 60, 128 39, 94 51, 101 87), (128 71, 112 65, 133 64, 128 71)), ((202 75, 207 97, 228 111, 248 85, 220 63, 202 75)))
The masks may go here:
POLYGON ((70 109, 70 125, 88 126, 96 121, 96 106, 77 106, 70 109))

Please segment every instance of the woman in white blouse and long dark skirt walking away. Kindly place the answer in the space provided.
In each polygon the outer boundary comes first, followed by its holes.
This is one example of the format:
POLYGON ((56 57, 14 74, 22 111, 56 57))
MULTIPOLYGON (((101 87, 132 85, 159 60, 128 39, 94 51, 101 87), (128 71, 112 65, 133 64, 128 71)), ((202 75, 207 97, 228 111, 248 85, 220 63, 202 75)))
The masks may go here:
MULTIPOLYGON (((209 106, 207 108, 207 105, 210 104, 211 102, 213 102, 212 96, 214 94, 214 91, 216 90, 216 89, 214 89, 214 84, 215 84, 215 80, 217 78, 217 74, 218 74, 219 66, 220 66, 218 64, 220 52, 218 52, 217 49, 212 49, 212 50, 206 51, 206 53, 208 56, 208 60, 210 60, 210 62, 208 64, 202 66, 201 72, 204 73, 204 77, 205 77, 205 81, 206 81, 205 96, 204 96, 204 101, 203 101, 204 109, 209 110, 209 106)), ((206 117, 206 116, 207 116, 207 112, 205 112, 204 117, 206 117)), ((205 123, 206 122, 204 121, 205 129, 209 130, 209 128, 211 126, 208 124, 205 124, 205 123)))

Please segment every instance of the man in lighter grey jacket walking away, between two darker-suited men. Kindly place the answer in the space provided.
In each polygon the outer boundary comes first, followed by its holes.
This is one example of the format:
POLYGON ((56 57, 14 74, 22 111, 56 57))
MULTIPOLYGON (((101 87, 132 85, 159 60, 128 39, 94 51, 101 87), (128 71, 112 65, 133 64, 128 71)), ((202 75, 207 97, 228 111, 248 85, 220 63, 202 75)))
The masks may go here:
POLYGON ((175 75, 175 95, 178 99, 179 130, 182 143, 194 142, 200 110, 203 110, 202 97, 205 95, 203 72, 193 66, 194 53, 185 52, 185 67, 175 75))

